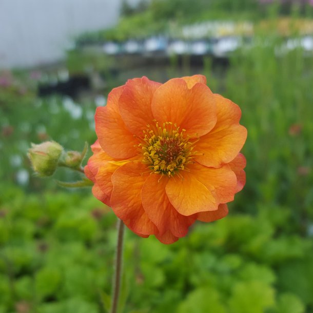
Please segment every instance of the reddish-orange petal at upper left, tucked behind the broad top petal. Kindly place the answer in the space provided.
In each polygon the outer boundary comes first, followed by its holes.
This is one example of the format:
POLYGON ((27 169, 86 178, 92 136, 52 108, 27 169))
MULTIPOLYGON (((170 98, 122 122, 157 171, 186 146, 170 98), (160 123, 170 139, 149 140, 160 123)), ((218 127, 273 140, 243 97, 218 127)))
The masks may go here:
POLYGON ((142 79, 129 80, 121 94, 119 109, 122 119, 133 134, 141 136, 147 124, 152 122, 151 101, 155 90, 161 86, 142 77, 142 79))

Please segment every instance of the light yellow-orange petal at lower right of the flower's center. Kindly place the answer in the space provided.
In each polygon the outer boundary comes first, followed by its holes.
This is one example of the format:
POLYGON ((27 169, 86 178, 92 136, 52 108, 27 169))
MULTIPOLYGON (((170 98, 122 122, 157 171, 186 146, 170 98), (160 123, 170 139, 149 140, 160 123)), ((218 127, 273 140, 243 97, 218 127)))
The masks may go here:
POLYGON ((220 203, 233 200, 236 191, 236 175, 228 165, 209 168, 200 164, 180 171, 182 179, 175 175, 166 185, 170 203, 185 216, 198 212, 217 210, 220 203))

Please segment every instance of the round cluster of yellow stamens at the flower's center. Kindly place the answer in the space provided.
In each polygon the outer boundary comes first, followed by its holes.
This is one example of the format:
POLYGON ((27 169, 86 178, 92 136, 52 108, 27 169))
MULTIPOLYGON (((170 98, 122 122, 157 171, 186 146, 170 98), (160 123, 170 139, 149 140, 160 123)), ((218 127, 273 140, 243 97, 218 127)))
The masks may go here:
POLYGON ((180 130, 176 124, 166 122, 162 127, 147 125, 144 130, 142 148, 144 159, 152 172, 167 174, 169 177, 179 170, 188 170, 186 165, 192 163, 193 144, 185 129, 180 130))

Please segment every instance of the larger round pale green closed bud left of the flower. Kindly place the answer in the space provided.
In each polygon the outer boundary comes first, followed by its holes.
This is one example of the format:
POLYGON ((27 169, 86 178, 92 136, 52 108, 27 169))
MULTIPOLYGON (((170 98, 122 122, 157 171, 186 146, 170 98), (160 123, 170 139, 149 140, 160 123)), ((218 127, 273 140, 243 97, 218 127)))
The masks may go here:
POLYGON ((34 171, 40 176, 51 176, 61 158, 63 147, 55 141, 32 144, 28 149, 28 158, 34 171))

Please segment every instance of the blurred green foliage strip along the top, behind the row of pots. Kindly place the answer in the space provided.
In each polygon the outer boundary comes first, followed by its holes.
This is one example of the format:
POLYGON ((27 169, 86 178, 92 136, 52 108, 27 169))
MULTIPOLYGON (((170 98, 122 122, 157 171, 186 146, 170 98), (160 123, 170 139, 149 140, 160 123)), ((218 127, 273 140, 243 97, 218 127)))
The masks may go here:
MULTIPOLYGON (((308 1, 307 1, 308 2, 308 1)), ((151 0, 138 6, 122 7, 122 16, 113 28, 83 33, 76 42, 122 42, 165 34, 178 38, 184 36, 181 26, 207 21, 259 22, 270 15, 310 17, 313 6, 305 1, 262 0, 151 0)))

